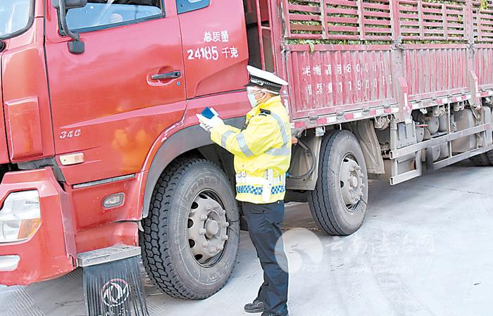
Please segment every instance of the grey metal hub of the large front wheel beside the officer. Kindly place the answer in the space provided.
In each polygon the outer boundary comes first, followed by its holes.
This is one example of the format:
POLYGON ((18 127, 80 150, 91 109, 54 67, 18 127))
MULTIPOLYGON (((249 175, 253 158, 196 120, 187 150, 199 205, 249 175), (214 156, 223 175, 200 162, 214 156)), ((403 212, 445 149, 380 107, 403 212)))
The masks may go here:
POLYGON ((188 217, 188 239, 198 263, 205 264, 223 251, 229 225, 226 211, 214 198, 201 193, 194 199, 188 217))

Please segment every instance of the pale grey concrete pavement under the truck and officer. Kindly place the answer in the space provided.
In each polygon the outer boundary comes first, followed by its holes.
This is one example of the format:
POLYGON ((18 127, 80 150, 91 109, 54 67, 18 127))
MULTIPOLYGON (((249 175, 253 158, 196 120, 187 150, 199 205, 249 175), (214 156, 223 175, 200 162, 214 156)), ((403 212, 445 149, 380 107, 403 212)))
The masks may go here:
MULTIPOLYGON (((308 205, 285 218, 291 316, 493 314, 493 168, 454 166, 390 187, 370 183, 363 227, 327 236, 308 205)), ((242 232, 230 281, 204 301, 182 301, 146 282, 151 315, 239 316, 261 267, 242 232)), ((85 315, 80 270, 32 286, 0 287, 0 316, 85 315)))

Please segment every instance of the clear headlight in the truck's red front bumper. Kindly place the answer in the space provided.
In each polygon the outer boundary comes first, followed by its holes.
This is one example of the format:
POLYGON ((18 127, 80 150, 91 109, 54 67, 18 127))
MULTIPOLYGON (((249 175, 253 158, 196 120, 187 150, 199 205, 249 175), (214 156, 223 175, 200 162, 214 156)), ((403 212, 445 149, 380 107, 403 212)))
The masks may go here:
POLYGON ((8 194, 0 209, 0 243, 28 239, 39 224, 41 210, 36 190, 8 194))

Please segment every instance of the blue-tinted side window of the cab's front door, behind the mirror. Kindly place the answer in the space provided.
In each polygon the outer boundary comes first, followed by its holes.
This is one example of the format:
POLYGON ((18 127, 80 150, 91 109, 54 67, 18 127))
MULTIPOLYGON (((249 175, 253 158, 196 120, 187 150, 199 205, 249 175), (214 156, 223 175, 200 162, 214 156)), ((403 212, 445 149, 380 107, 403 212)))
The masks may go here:
POLYGON ((162 0, 89 0, 67 12, 70 30, 89 32, 163 16, 162 0))

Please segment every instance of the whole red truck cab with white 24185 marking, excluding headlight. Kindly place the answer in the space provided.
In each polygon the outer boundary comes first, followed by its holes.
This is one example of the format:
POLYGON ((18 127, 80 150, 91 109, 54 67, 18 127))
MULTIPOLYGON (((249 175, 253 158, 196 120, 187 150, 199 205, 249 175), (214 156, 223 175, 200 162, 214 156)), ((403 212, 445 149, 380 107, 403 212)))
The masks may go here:
POLYGON ((0 33, 0 199, 37 191, 40 210, 35 232, 0 239, 1 284, 56 277, 75 269, 77 253, 137 244, 163 141, 196 125, 205 106, 223 118, 249 107, 242 1, 89 2, 66 16, 85 45, 80 54, 69 51, 51 0, 0 4, 16 23, 25 19, 0 33), (219 18, 219 8, 229 13, 219 18), (115 194, 124 203, 105 207, 115 194))

